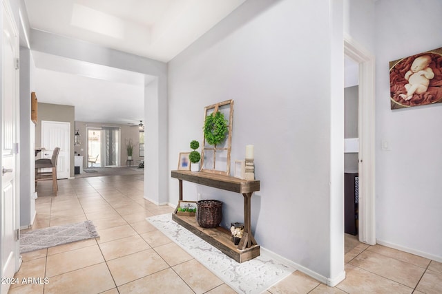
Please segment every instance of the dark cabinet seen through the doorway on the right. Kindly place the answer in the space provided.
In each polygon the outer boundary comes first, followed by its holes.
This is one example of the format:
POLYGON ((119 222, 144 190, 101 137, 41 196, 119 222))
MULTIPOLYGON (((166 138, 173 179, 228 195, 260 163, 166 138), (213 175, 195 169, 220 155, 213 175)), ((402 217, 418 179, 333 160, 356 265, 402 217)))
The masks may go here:
POLYGON ((358 234, 359 174, 344 174, 345 233, 358 234))

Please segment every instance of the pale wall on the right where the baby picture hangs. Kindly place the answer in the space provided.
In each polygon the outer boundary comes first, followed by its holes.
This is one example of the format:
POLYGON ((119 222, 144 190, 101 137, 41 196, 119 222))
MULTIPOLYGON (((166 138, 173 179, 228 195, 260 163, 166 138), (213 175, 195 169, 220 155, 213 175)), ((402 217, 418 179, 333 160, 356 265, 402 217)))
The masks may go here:
POLYGON ((442 103, 390 110, 389 62, 442 47, 442 1, 376 1, 376 238, 442 262, 442 103), (385 140, 389 150, 381 149, 385 140))

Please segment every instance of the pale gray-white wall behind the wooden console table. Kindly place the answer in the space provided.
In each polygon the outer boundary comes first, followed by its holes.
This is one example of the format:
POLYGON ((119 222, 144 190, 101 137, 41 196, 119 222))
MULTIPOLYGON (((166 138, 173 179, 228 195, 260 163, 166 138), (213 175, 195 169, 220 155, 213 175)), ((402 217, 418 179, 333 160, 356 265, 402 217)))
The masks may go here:
MULTIPOLYGON (((322 0, 247 1, 169 63, 170 169, 191 140, 202 139, 204 107, 233 99, 232 161, 255 145, 257 242, 332 278, 343 272, 343 8, 333 2, 332 13, 322 0), (331 13, 338 17, 334 30, 331 13), (332 65, 338 87, 331 85, 332 65), (332 99, 342 115, 331 115, 332 99), (332 179, 336 152, 342 160, 332 179), (332 201, 331 191, 340 199, 332 201)), ((177 180, 169 183, 176 203, 177 180)), ((224 202, 223 225, 242 221, 240 194, 184 183, 185 199, 197 192, 224 202)))

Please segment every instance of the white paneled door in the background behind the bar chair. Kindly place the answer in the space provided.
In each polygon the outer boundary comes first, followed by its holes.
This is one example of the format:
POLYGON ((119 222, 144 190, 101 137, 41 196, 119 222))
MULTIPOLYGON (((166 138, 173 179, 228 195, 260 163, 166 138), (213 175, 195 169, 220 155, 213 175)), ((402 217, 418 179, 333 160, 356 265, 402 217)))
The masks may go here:
POLYGON ((41 120, 41 158, 51 158, 55 147, 60 148, 57 160, 57 178, 70 176, 70 123, 41 120))

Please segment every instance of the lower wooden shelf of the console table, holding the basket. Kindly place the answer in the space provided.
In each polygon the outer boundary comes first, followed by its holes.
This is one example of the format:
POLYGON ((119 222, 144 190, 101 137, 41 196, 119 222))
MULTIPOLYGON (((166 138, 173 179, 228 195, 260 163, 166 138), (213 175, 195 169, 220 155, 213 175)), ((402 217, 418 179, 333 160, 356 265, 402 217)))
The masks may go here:
POLYGON ((259 245, 253 245, 244 250, 237 249, 231 240, 231 233, 227 229, 222 227, 215 229, 202 228, 198 226, 195 216, 178 216, 173 213, 172 219, 237 262, 246 262, 260 255, 259 245))

